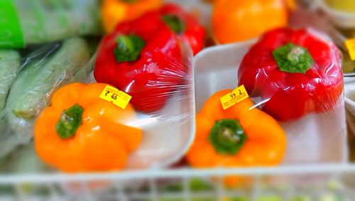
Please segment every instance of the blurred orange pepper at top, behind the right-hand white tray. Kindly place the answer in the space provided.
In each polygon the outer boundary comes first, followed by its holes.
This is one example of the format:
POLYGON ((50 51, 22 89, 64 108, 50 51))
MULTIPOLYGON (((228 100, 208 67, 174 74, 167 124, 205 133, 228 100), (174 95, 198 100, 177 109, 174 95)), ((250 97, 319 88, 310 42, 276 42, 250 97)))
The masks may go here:
POLYGON ((287 22, 288 6, 284 0, 214 1, 212 29, 217 43, 256 38, 287 22))

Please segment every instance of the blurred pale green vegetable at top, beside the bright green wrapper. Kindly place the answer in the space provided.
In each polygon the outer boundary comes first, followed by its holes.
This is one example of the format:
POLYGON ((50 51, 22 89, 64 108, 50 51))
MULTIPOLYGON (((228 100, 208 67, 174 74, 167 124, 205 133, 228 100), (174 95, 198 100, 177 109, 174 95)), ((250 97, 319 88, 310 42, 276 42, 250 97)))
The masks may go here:
POLYGON ((26 44, 102 33, 95 0, 15 0, 26 44))

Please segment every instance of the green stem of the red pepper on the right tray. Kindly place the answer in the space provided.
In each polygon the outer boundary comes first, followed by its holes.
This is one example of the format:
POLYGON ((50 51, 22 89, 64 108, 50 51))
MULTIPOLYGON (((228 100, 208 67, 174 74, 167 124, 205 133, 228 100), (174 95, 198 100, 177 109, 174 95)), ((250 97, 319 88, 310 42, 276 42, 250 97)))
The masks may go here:
POLYGON ((307 48, 293 43, 273 50, 273 58, 278 64, 278 69, 288 73, 305 74, 315 63, 307 48))

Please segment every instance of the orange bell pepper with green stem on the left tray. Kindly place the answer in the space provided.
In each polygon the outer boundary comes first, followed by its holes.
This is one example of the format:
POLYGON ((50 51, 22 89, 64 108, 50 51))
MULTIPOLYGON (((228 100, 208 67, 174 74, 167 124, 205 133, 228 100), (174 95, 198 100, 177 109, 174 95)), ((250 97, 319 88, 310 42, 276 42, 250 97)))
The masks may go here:
POLYGON ((55 92, 34 126, 35 150, 43 161, 70 173, 125 167, 142 131, 125 125, 136 119, 130 104, 121 109, 99 98, 105 86, 73 83, 55 92))

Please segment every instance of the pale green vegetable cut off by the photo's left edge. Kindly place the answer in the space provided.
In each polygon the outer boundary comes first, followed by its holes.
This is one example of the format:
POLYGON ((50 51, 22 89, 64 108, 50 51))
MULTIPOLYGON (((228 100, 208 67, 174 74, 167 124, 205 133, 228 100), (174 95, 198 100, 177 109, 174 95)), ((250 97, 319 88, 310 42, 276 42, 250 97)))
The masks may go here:
POLYGON ((21 57, 16 50, 0 50, 0 112, 6 105, 6 97, 21 67, 21 57))

